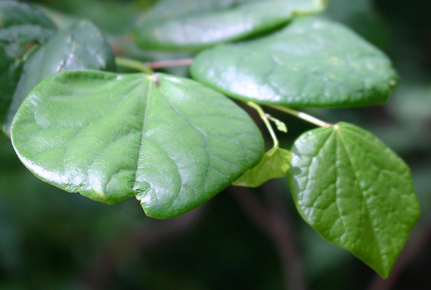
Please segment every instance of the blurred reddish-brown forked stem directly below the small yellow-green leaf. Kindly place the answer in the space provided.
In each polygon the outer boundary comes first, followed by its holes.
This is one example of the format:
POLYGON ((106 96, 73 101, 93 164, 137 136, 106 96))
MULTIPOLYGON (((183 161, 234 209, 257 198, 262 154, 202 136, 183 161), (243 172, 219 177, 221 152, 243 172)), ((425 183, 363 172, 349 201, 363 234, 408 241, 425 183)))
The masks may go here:
POLYGON ((286 201, 276 187, 274 181, 263 186, 268 208, 262 205, 251 189, 239 186, 231 186, 230 189, 245 214, 274 242, 283 268, 285 289, 306 290, 302 261, 286 210, 286 201))

